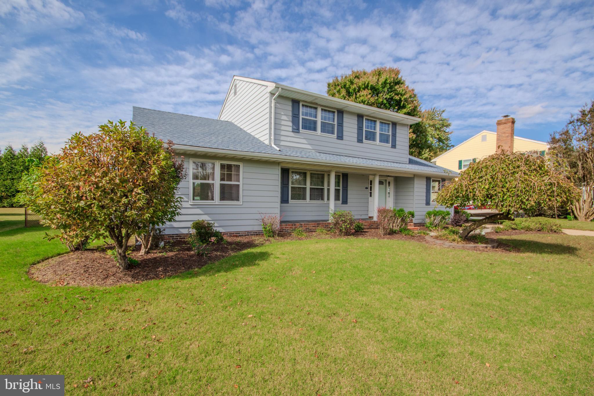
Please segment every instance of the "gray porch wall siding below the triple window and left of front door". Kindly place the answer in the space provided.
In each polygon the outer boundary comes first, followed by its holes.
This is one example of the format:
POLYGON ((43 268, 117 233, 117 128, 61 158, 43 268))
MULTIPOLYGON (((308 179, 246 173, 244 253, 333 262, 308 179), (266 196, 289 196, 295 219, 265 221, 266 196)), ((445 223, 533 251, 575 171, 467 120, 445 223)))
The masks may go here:
MULTIPOLYGON (((369 176, 349 174, 348 203, 334 202, 334 210, 349 210, 355 218, 368 217, 369 198, 365 187, 369 176)), ((289 202, 280 204, 283 221, 321 220, 327 221, 330 202, 289 202)))

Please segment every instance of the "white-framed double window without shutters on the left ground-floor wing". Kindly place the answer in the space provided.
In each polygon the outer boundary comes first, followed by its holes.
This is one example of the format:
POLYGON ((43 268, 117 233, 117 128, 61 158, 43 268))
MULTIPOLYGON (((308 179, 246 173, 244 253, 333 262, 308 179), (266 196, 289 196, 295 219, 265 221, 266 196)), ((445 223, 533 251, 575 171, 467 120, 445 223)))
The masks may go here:
POLYGON ((241 163, 191 160, 191 199, 195 203, 241 203, 241 163))

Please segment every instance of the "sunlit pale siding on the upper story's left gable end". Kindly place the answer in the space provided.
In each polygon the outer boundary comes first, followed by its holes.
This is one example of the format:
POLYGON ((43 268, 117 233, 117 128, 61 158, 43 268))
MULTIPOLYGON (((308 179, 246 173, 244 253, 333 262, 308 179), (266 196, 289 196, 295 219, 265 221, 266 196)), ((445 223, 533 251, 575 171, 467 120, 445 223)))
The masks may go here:
POLYGON ((266 85, 235 80, 226 98, 220 120, 230 121, 268 144, 270 94, 266 85))

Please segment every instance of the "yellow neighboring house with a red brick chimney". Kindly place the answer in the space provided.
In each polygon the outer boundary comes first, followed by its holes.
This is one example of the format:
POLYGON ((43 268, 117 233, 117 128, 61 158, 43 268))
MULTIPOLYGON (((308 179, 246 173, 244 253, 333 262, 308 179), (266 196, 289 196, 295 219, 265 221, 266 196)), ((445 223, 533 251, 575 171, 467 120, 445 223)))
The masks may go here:
POLYGON ((495 154, 498 149, 538 153, 544 156, 548 150, 548 144, 538 140, 514 136, 515 124, 516 120, 514 118, 504 116, 502 119, 497 120, 497 132, 481 131, 472 138, 435 157, 431 162, 445 169, 458 172, 465 170, 471 162, 495 154))

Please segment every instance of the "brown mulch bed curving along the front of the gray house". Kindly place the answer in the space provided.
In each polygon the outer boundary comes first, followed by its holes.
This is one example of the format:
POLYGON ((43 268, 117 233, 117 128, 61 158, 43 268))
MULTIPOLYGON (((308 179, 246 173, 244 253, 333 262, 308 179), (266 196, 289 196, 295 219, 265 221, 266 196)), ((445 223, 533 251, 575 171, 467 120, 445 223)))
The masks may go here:
MULTIPOLYGON (((425 230, 425 227, 422 227, 425 230)), ((521 231, 507 231, 492 235, 493 237, 517 235, 521 231)), ((296 237, 285 234, 275 239, 263 236, 229 236, 226 243, 212 245, 212 250, 206 258, 197 256, 188 245, 178 243, 172 248, 153 249, 149 254, 140 255, 132 252, 131 258, 137 259, 138 265, 131 265, 128 271, 121 271, 116 262, 105 252, 105 249, 89 249, 82 252, 72 252, 31 265, 29 277, 50 286, 115 286, 118 284, 141 283, 147 280, 162 279, 188 270, 204 267, 211 262, 219 261, 227 256, 266 245, 270 242, 305 239, 333 239, 333 233, 321 234, 310 232, 306 237, 296 237)), ((380 230, 371 229, 354 233, 355 238, 406 240, 428 243, 424 235, 386 235, 381 236, 380 230)), ((460 244, 464 249, 465 244, 460 244)), ((509 252, 509 248, 502 246, 489 251, 509 252)))

